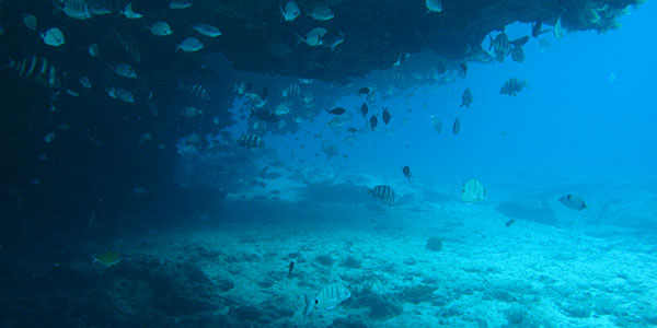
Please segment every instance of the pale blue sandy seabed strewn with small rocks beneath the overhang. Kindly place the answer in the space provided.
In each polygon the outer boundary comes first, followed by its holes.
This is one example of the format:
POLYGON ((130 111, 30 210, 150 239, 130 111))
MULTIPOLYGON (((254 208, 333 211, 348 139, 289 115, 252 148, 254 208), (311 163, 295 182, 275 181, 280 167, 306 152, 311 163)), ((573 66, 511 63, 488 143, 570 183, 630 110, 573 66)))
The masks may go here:
POLYGON ((456 201, 224 208, 229 220, 115 239, 125 260, 100 274, 116 312, 224 327, 657 326, 657 246, 632 235, 507 226, 492 204, 456 201), (135 271, 146 286, 122 282, 135 271), (332 282, 350 298, 303 317, 303 295, 332 282))

